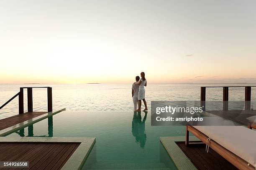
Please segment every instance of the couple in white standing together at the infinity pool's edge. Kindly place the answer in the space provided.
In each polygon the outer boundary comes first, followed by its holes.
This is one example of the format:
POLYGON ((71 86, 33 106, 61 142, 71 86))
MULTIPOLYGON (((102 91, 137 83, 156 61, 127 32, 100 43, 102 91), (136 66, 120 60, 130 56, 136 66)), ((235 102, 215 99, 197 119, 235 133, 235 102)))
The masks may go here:
POLYGON ((147 80, 145 78, 145 73, 141 72, 141 79, 139 76, 135 77, 136 82, 133 83, 132 86, 132 96, 133 96, 133 107, 134 111, 141 111, 141 100, 143 100, 145 109, 143 111, 147 111, 147 102, 145 100, 145 88, 147 86, 147 80), (138 109, 137 109, 138 104, 138 109))

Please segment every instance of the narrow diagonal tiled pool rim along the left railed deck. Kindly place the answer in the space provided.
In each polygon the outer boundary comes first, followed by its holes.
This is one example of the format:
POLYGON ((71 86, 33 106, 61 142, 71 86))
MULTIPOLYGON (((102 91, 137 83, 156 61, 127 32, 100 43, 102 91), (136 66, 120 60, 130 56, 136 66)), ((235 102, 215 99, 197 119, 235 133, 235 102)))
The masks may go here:
POLYGON ((7 136, 7 135, 9 135, 9 134, 11 134, 13 132, 16 132, 17 130, 20 130, 22 128, 26 128, 29 125, 32 125, 32 124, 34 124, 36 122, 44 120, 47 117, 53 116, 53 115, 55 115, 55 114, 57 114, 59 112, 62 112, 64 110, 66 110, 66 108, 56 109, 56 110, 54 110, 52 112, 47 112, 47 113, 45 113, 43 115, 40 115, 40 116, 34 117, 32 119, 26 120, 24 122, 18 123, 18 124, 13 125, 13 126, 11 126, 9 128, 5 128, 3 130, 0 130, 0 136, 7 136))

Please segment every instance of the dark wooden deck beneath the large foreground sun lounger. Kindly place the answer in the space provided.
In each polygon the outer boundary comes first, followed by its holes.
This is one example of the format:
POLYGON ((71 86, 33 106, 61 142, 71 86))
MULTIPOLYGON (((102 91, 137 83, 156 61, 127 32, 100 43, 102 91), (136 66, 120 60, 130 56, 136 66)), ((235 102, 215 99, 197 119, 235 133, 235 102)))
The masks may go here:
POLYGON ((199 170, 238 170, 211 148, 207 153, 205 151, 205 144, 191 144, 185 146, 185 142, 176 143, 199 170))

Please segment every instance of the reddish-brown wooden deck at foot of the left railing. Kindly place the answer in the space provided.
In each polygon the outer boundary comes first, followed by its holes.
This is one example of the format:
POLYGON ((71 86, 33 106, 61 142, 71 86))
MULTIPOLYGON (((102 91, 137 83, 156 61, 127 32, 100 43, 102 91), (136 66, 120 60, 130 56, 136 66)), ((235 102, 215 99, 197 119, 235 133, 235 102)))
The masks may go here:
POLYGON ((45 114, 46 112, 26 112, 0 120, 0 130, 45 114))

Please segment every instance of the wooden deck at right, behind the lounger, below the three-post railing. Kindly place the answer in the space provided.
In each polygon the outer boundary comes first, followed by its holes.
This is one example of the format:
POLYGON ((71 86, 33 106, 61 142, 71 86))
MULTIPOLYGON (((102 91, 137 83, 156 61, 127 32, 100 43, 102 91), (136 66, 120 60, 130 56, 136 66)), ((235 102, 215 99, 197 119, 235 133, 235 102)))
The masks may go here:
POLYGON ((256 115, 256 110, 211 110, 207 112, 246 126, 248 123, 246 118, 256 115))

